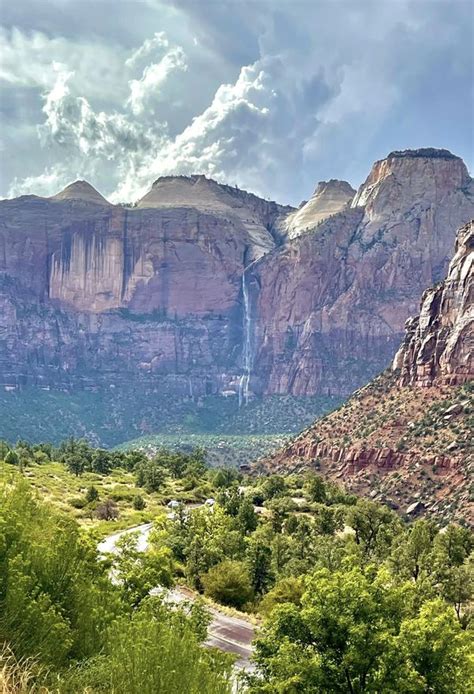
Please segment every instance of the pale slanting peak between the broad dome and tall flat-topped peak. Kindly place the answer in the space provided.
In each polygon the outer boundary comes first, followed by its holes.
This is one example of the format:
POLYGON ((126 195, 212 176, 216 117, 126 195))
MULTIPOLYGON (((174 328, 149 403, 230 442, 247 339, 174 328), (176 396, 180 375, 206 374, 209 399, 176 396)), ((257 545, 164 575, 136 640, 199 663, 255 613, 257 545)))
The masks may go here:
POLYGON ((288 236, 294 238, 304 231, 314 229, 320 222, 347 207, 354 195, 355 190, 347 181, 320 181, 308 202, 288 215, 288 236))

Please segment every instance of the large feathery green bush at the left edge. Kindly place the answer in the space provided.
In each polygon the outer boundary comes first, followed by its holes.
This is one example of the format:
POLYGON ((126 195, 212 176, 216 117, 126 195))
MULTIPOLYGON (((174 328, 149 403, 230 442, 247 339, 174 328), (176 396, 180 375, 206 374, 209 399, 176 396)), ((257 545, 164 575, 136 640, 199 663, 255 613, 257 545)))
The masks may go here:
POLYGON ((118 609, 95 546, 26 483, 0 495, 1 638, 56 666, 93 654, 118 609))

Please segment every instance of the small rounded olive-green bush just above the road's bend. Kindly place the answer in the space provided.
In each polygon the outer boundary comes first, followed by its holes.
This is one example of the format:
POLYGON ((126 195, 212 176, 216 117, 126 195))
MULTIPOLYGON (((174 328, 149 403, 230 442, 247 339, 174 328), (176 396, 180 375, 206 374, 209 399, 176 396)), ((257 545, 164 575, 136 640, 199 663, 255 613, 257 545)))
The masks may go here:
POLYGON ((253 591, 247 566, 226 559, 203 575, 204 592, 223 605, 241 608, 251 600, 253 591))

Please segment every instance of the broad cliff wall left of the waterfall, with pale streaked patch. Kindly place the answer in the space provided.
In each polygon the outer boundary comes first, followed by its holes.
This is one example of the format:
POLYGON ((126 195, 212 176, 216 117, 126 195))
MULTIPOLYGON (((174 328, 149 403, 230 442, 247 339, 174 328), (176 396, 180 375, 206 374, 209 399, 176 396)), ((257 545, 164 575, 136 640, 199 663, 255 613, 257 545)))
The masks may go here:
POLYGON ((202 177, 172 189, 160 180, 132 209, 83 182, 1 203, 5 387, 136 381, 198 397, 238 383, 243 269, 291 208, 202 177))

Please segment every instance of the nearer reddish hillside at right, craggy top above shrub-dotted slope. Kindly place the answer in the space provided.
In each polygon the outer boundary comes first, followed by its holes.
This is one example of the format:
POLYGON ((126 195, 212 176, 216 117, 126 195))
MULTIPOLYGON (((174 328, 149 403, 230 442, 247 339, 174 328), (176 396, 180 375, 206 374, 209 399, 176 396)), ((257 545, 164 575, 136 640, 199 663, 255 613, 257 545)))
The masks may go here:
POLYGON ((391 372, 260 468, 317 468, 409 513, 474 522, 474 221, 446 279, 423 295, 391 372))

